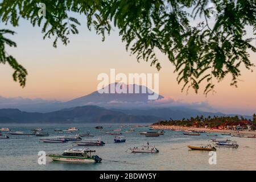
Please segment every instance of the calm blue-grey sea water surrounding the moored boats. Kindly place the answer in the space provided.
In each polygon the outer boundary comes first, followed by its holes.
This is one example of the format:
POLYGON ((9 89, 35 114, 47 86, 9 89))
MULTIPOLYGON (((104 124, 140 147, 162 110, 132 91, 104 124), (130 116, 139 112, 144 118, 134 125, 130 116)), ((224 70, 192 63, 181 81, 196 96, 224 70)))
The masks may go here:
MULTIPOLYGON (((89 131, 94 138, 101 137, 105 146, 89 147, 96 150, 96 155, 103 160, 96 164, 77 164, 52 162, 47 158, 44 165, 38 164, 38 152, 62 154, 67 148, 75 147, 72 142, 43 143, 34 135, 9 135, 10 139, 0 139, 0 170, 256 170, 256 139, 233 138, 240 147, 217 148, 217 164, 209 164, 208 151, 191 151, 187 147, 204 146, 210 143, 206 134, 201 136, 183 135, 181 131, 165 130, 160 137, 145 137, 141 131, 148 131, 148 127, 136 127, 134 133, 125 133, 130 126, 122 127, 122 134, 126 137, 125 143, 114 143, 114 136, 105 134, 105 130, 121 128, 114 124, 1 124, 0 127, 9 127, 11 131, 24 131, 30 133, 31 129, 42 127, 50 136, 63 136, 73 134, 59 134, 54 129, 68 129, 78 127, 76 133, 89 131), (95 126, 103 126, 97 130, 95 126), (130 147, 139 147, 147 142, 159 149, 158 154, 133 154, 130 147)), ((128 124, 127 124, 128 125, 128 124)), ((74 133, 75 134, 75 133, 74 133)), ((219 135, 218 137, 228 138, 219 135)), ((88 137, 86 137, 88 138, 88 137)), ((84 139, 84 138, 83 138, 84 139)))

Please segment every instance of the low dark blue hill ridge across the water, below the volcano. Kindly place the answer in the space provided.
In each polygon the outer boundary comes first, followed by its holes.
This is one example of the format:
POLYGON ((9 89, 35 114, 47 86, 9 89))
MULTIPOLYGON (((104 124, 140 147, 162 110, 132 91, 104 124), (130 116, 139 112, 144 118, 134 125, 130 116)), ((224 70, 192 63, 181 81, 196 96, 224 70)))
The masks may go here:
POLYGON ((0 123, 152 123, 159 117, 129 115, 98 106, 81 106, 51 113, 28 113, 19 109, 0 109, 0 123))

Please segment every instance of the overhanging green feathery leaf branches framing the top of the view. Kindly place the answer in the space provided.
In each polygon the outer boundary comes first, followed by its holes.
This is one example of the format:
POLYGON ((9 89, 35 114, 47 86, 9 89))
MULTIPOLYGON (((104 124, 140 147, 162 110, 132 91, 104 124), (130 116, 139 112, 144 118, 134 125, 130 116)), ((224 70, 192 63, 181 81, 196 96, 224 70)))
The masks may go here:
MULTIPOLYGON (((80 22, 69 14, 79 13, 87 18, 89 30, 97 34, 110 34, 117 27, 127 51, 137 60, 150 61, 161 68, 155 50, 163 52, 175 66, 177 82, 183 89, 197 92, 202 81, 207 82, 204 93, 213 90, 213 80, 221 81, 230 73, 231 85, 237 86, 241 66, 249 70, 254 66, 248 51, 256 52, 245 38, 245 27, 256 35, 255 0, 2 0, 0 19, 18 26, 19 19, 30 20, 33 26, 42 27, 45 38, 55 38, 68 44, 69 34, 78 34, 80 22), (38 3, 45 3, 46 16, 39 16, 38 3), (212 6, 210 6, 212 5, 212 6), (209 21, 214 20, 213 26, 209 21), (197 24, 193 24, 196 20, 197 24)), ((4 38, 13 34, 0 31, 0 63, 8 62, 14 68, 14 80, 24 86, 26 69, 5 51, 5 44, 15 46, 4 38)))

